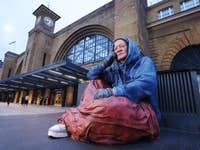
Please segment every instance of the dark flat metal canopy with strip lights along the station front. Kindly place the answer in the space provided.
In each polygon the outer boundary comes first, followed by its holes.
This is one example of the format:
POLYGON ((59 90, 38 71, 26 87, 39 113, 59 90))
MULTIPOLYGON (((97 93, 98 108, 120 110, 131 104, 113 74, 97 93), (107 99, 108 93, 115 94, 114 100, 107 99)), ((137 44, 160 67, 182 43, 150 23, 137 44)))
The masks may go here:
POLYGON ((87 72, 71 62, 61 61, 0 80, 0 92, 75 85, 87 80, 87 72))

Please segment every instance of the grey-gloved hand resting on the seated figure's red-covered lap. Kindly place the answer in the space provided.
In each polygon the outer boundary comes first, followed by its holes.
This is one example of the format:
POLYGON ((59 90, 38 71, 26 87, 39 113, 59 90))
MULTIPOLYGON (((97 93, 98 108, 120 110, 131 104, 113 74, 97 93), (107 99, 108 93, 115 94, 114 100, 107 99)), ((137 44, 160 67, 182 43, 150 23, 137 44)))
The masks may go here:
POLYGON ((113 95, 113 91, 111 88, 106 88, 106 89, 99 89, 97 93, 94 96, 94 99, 99 99, 99 98, 107 98, 113 95))

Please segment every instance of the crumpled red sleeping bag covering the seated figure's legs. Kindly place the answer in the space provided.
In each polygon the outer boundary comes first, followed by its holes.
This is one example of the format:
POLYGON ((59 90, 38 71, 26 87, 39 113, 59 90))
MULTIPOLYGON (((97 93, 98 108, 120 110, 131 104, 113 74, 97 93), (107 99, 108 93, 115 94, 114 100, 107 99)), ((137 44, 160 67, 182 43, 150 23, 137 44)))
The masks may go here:
POLYGON ((102 80, 92 80, 83 93, 81 104, 58 119, 66 125, 72 139, 123 144, 159 136, 159 124, 150 104, 137 104, 116 96, 94 100, 97 89, 106 87, 109 86, 102 80))

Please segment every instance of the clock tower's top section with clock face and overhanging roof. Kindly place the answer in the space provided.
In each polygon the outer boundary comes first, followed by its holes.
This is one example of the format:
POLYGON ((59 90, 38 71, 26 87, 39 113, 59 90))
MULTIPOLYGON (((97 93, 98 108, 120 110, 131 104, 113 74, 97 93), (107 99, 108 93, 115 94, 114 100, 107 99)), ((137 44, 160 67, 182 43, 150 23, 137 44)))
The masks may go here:
POLYGON ((56 13, 41 5, 33 14, 36 16, 35 29, 47 32, 54 32, 55 22, 60 18, 56 13))

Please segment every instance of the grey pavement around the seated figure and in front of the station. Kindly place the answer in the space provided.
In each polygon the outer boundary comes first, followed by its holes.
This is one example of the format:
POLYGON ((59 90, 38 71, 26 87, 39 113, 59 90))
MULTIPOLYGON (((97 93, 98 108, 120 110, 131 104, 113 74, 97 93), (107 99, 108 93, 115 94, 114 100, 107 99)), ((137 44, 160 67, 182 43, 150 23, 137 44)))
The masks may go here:
POLYGON ((50 126, 68 108, 0 103, 0 150, 200 150, 200 133, 161 128, 155 141, 124 145, 82 143, 47 137, 50 126))

